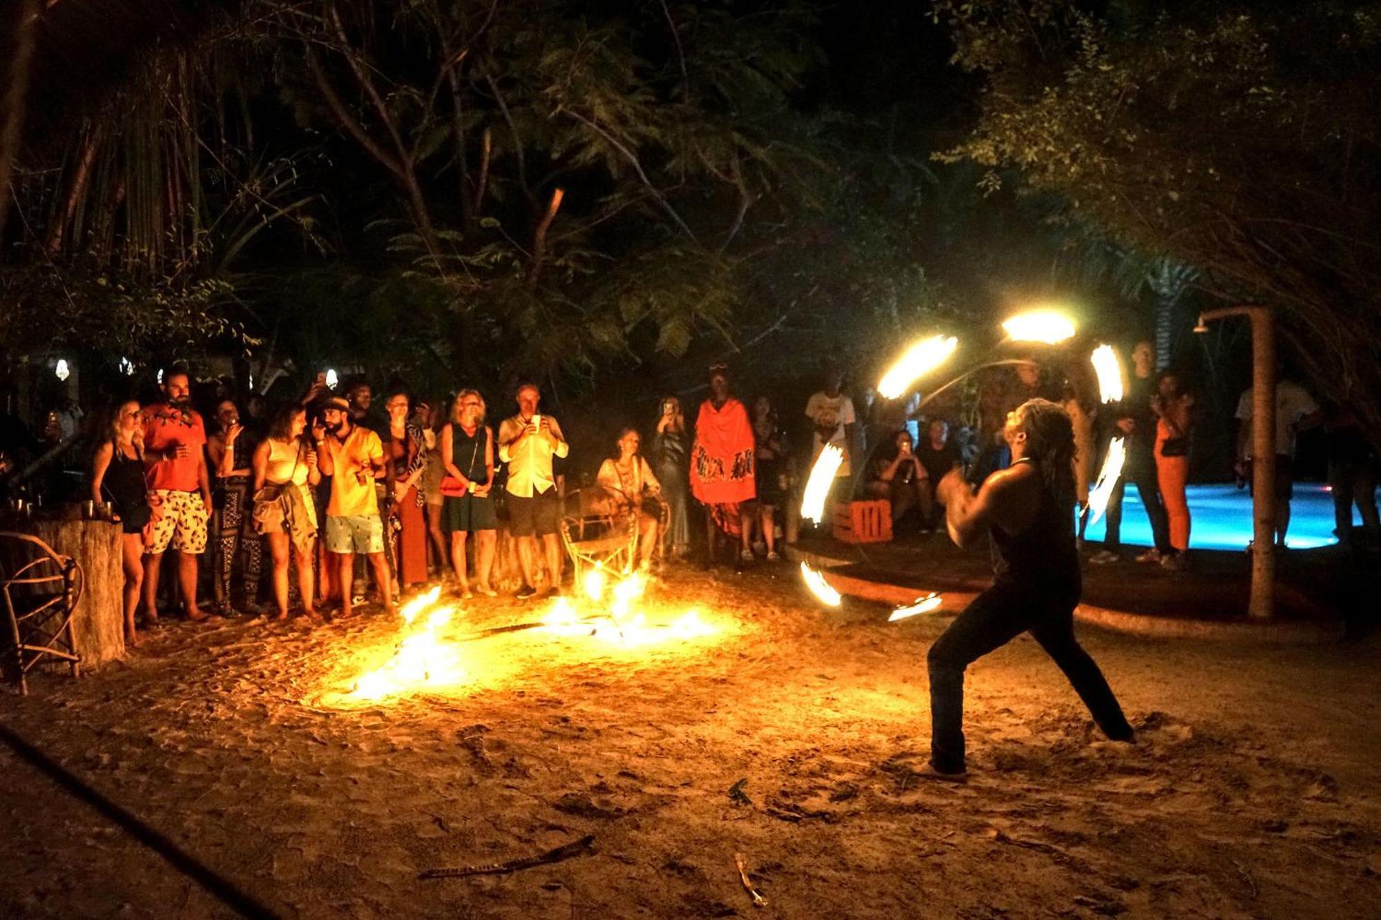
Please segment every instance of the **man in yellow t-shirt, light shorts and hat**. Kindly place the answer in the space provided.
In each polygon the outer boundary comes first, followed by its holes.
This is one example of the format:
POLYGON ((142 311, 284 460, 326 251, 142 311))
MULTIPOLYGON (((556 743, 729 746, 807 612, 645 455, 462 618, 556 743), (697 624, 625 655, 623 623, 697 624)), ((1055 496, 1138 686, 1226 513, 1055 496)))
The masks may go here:
POLYGON ((322 475, 331 478, 331 499, 326 506, 326 550, 337 554, 340 566, 341 616, 351 616, 349 583, 355 554, 363 553, 374 569, 374 583, 384 611, 394 612, 394 586, 384 557, 384 521, 378 515, 374 479, 384 477, 384 445, 369 428, 355 424, 349 403, 338 396, 322 410, 326 437, 316 452, 322 475))

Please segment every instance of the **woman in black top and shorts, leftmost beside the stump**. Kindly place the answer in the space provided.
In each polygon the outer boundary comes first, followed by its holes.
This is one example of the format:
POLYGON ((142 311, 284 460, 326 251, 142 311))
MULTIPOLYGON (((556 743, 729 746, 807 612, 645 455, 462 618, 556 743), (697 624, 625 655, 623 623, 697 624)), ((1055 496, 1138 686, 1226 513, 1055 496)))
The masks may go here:
POLYGON ((134 612, 144 583, 144 532, 153 517, 144 482, 144 410, 135 399, 122 402, 110 420, 106 439, 91 461, 91 500, 109 501, 112 521, 120 524, 120 559, 124 568, 124 642, 139 644, 134 612))

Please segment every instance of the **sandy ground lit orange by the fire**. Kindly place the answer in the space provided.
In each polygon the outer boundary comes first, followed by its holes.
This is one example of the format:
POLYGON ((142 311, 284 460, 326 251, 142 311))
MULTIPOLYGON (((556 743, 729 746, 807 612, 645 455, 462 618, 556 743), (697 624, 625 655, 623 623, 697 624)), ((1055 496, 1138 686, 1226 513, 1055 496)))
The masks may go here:
MULTIPOLYGON (((475 601, 442 631, 468 677, 373 705, 340 695, 396 622, 175 624, 0 717, 286 917, 1381 914, 1374 641, 1081 629, 1139 728, 1127 747, 1018 640, 969 670, 974 778, 952 787, 911 775, 946 619, 824 611, 789 568, 677 572, 649 612, 692 606, 715 634, 458 642, 532 619, 475 601), (417 879, 586 834, 555 865, 417 879)), ((7 917, 229 916, 3 746, 0 814, 7 917)))

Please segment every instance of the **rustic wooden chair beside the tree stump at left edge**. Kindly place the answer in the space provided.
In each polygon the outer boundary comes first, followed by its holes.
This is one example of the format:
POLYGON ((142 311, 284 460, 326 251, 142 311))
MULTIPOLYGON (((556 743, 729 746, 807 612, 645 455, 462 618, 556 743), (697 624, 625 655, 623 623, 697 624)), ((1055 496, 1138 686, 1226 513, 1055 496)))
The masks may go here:
POLYGON ((81 675, 81 656, 72 642, 81 587, 76 559, 54 553, 36 536, 0 532, 0 600, 21 693, 29 692, 29 670, 46 658, 68 662, 72 677, 81 675))

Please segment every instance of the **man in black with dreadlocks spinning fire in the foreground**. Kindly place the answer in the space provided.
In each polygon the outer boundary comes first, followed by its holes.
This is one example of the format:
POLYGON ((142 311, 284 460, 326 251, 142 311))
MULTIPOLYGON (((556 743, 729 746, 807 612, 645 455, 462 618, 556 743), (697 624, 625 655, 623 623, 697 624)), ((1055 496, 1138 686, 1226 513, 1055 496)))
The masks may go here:
POLYGON ((931 769, 925 775, 935 779, 968 779, 964 670, 1025 631, 1055 659, 1108 738, 1132 738, 1102 671, 1074 640, 1074 606, 1083 586, 1074 550, 1074 434, 1069 416, 1052 402, 1030 399, 1008 413, 1003 438, 1012 463, 990 475, 976 496, 957 470, 938 488, 957 546, 989 535, 994 577, 931 646, 931 769))

